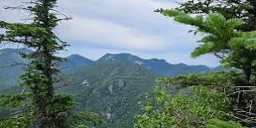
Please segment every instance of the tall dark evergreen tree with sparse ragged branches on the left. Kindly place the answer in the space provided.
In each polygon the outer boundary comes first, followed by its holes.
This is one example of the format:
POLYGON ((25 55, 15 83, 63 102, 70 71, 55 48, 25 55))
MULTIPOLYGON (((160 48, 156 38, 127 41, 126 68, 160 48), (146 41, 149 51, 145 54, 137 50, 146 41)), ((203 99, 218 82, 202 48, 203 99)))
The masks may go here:
MULTIPOLYGON (((70 19, 66 15, 55 10, 57 0, 34 0, 20 7, 7 9, 21 9, 31 13, 31 24, 9 24, 0 22, 0 28, 5 29, 1 35, 2 43, 16 43, 24 45, 33 51, 20 53, 29 60, 26 72, 20 77, 21 87, 25 88, 21 94, 3 96, 2 106, 19 107, 18 114, 0 120, 3 127, 40 127, 40 128, 66 128, 83 123, 82 119, 92 120, 85 114, 73 115, 71 96, 55 93, 54 84, 58 81, 57 63, 62 61, 56 56, 57 51, 64 50, 67 43, 61 41, 54 33, 58 22, 70 19), (64 16, 63 19, 57 15, 64 16), (27 89, 27 91, 25 91, 27 89), (78 121, 78 119, 81 121, 78 121), (77 119, 77 120, 74 120, 77 119)), ((95 118, 96 115, 93 115, 95 118)), ((97 115, 98 117, 98 115, 97 115)), ((102 124, 104 121, 99 120, 102 124)), ((85 125, 77 125, 85 127, 85 125)))

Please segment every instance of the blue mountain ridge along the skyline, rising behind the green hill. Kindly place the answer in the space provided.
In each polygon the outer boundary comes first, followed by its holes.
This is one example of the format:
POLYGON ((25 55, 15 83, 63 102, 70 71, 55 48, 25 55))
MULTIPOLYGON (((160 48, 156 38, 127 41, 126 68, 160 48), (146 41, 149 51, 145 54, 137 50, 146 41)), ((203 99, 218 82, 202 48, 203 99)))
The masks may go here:
MULTIPOLYGON (((24 61, 24 59, 19 56, 19 51, 31 52, 26 48, 22 48, 22 49, 8 48, 8 49, 0 50, 0 67, 3 67, 4 63, 6 64, 6 62, 4 61, 13 61, 15 59, 17 60, 17 58, 19 58, 19 60, 21 61, 24 61), (3 60, 3 58, 6 56, 6 55, 1 56, 1 54, 3 53, 8 54, 9 60, 8 59, 3 60), (2 64, 1 64, 1 61, 2 61, 2 64)), ((125 61, 125 62, 135 63, 140 65, 141 67, 149 68, 152 71, 157 72, 157 74, 166 76, 166 77, 188 75, 188 74, 197 73, 197 72, 211 72, 211 71, 217 71, 218 69, 220 69, 217 67, 214 67, 214 68, 206 67, 204 65, 189 66, 184 63, 170 64, 168 63, 168 61, 165 61, 164 59, 157 59, 157 58, 142 59, 141 57, 132 55, 130 53, 119 53, 119 54, 107 53, 104 56, 100 57, 97 61, 92 61, 87 57, 84 57, 78 54, 72 54, 70 56, 67 56, 66 60, 67 61, 63 61, 59 66, 61 71, 63 72, 72 71, 73 69, 78 67, 85 67, 85 66, 92 65, 98 62, 103 62, 103 61, 125 61)))

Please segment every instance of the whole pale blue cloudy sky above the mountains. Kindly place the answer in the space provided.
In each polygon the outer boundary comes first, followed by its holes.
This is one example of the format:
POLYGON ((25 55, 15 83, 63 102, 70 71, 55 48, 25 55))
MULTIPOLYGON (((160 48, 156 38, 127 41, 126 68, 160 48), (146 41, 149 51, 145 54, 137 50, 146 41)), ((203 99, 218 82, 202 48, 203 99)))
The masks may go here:
MULTIPOLYGON (((29 14, 4 10, 25 0, 0 0, 0 20, 29 22, 29 14)), ((185 0, 184 0, 185 1, 185 0)), ((216 67, 211 55, 191 58, 200 36, 189 34, 189 26, 155 13, 157 8, 174 8, 173 0, 59 0, 57 9, 72 17, 55 29, 71 46, 61 56, 79 54, 97 60, 106 53, 131 53, 144 59, 169 63, 216 67)))

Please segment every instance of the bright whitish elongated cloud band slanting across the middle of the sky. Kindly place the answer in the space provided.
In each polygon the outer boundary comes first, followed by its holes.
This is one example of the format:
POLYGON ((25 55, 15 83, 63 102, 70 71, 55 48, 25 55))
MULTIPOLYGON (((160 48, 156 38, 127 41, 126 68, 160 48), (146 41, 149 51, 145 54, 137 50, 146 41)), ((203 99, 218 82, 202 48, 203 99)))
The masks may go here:
POLYGON ((120 49, 161 51, 170 44, 156 35, 100 19, 76 18, 61 25, 63 38, 88 45, 120 49))

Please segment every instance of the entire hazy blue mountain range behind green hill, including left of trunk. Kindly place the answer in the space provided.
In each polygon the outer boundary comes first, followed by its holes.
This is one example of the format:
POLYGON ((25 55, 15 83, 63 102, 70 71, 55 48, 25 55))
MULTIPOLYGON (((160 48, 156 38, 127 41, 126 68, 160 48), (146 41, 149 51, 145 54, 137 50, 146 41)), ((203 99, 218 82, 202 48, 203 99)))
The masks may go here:
MULTIPOLYGON (((22 58, 19 52, 32 52, 29 49, 3 49, 0 50, 0 63, 1 74, 0 79, 3 83, 0 83, 0 87, 3 88, 0 92, 13 93, 21 91, 18 88, 19 76, 24 72, 24 67, 29 63, 28 60, 22 58)), ((76 69, 80 67, 88 67, 97 63, 105 63, 106 61, 126 62, 136 64, 141 67, 148 68, 152 72, 156 72, 159 76, 178 76, 192 74, 195 72, 216 72, 221 69, 210 68, 205 66, 188 66, 185 64, 169 64, 167 61, 159 59, 145 60, 138 56, 131 54, 106 54, 97 61, 89 60, 80 55, 67 56, 65 60, 57 64, 57 67, 63 74, 70 72, 79 72, 76 69), (111 57, 110 57, 111 56, 111 57)), ((106 66, 108 68, 108 66, 106 66)))

